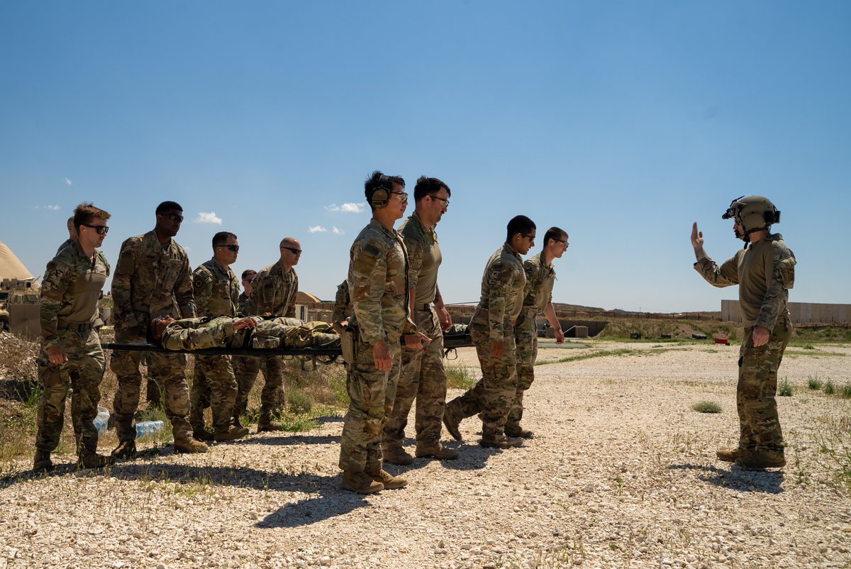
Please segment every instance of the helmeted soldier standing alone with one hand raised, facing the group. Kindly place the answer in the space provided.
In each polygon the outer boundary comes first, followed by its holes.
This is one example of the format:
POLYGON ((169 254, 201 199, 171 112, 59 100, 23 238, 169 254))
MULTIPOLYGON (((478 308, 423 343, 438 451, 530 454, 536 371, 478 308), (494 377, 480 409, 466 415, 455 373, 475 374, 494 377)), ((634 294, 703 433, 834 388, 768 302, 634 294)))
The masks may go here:
POLYGON ((792 333, 789 290, 795 284, 795 255, 780 233, 769 233, 780 211, 768 198, 743 196, 733 200, 723 219, 734 219, 736 237, 745 248, 719 267, 703 250, 703 233, 692 226, 694 268, 715 286, 739 285, 739 306, 745 338, 739 352, 739 445, 722 448, 717 457, 742 468, 780 468, 785 465, 783 433, 777 415, 777 370, 792 333))

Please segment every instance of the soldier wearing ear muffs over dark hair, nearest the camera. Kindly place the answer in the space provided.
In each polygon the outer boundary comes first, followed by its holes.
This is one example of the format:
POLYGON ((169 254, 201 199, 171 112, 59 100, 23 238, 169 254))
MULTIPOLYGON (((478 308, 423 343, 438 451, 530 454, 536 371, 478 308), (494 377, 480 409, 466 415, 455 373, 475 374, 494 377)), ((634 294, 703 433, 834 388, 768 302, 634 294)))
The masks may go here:
MULTIPOLYGON (((403 332, 414 331, 408 313, 408 254, 393 223, 403 216, 408 194, 398 176, 374 172, 364 184, 372 219, 351 244, 348 285, 357 327, 354 360, 348 362, 349 411, 340 436, 343 489, 368 494, 408 484, 383 467, 381 429, 392 411, 403 332)), ((422 346, 419 334, 406 345, 422 346)))

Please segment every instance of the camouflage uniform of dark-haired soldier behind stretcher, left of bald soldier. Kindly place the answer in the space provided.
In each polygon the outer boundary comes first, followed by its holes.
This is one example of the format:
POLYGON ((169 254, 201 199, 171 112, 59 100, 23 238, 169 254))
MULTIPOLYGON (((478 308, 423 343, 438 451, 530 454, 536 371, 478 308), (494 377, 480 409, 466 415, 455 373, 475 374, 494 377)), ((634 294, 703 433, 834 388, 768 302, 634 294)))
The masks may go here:
MULTIPOLYGON (((210 259, 192 273, 195 306, 199 316, 236 316, 239 280, 231 267, 210 259)), ((224 432, 231 424, 233 405, 237 400, 237 379, 233 375, 231 357, 197 355, 190 392, 189 421, 192 430, 204 427, 204 407, 213 411, 213 428, 224 432)))

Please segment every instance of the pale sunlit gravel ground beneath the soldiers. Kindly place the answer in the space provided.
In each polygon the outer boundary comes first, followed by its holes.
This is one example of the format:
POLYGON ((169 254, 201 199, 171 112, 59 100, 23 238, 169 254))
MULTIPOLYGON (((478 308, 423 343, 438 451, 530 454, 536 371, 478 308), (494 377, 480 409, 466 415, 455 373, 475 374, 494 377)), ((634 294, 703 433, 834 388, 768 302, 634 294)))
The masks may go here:
MULTIPOLYGON (((369 497, 340 491, 340 417, 106 470, 33 477, 21 461, 0 482, 0 569, 851 567, 851 496, 818 452, 831 432, 851 443, 851 399, 806 388, 851 382, 851 348, 788 351, 788 464, 748 472, 715 459, 738 438, 738 347, 588 346, 539 359, 630 352, 536 367, 527 446, 479 447, 472 417, 448 443, 459 460, 389 466, 409 486, 369 497), (722 412, 691 410, 704 399, 722 412)), ((475 354, 450 365, 475 367, 475 354)))

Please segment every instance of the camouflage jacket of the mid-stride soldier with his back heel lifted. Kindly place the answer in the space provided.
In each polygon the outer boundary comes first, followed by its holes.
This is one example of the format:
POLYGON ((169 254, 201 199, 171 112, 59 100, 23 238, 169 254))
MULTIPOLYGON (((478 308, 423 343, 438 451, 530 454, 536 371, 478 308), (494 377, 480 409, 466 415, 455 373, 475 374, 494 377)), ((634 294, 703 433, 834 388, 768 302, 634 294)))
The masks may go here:
POLYGON ((511 245, 503 244, 488 259, 482 275, 482 297, 471 323, 487 323, 491 342, 505 341, 505 328, 523 306, 526 273, 523 260, 511 245))

